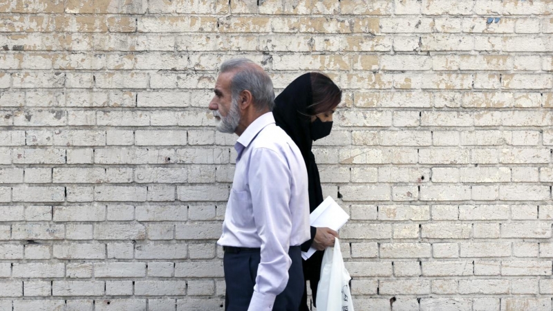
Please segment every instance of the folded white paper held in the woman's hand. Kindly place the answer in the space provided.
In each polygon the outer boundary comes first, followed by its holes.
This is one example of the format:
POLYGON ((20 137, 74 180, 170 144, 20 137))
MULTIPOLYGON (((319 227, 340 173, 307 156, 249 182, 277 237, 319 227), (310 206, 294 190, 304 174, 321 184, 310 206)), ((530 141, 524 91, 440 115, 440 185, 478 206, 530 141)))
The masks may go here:
MULTIPOLYGON (((341 209, 338 203, 328 196, 309 215, 309 223, 311 227, 328 227, 334 231, 338 231, 349 218, 350 216, 344 209, 341 209)), ((301 257, 303 260, 307 260, 315 252, 317 252, 317 249, 311 247, 307 252, 301 252, 301 257)))

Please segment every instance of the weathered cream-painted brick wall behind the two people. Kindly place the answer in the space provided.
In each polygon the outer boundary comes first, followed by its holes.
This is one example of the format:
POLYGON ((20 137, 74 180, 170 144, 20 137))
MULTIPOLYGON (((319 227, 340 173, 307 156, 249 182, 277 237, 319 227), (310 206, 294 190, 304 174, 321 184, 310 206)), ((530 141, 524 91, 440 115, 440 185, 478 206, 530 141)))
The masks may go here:
POLYGON ((344 89, 356 310, 552 310, 552 50, 549 0, 2 0, 0 310, 223 310, 237 56, 344 89))

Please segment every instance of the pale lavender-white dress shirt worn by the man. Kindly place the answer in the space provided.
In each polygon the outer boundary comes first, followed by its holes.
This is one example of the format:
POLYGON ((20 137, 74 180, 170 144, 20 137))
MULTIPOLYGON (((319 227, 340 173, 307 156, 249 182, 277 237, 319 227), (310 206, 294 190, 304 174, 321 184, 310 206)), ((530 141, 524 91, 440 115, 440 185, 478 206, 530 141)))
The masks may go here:
POLYGON ((248 310, 270 311, 288 283, 288 249, 310 238, 306 164, 272 113, 247 126, 234 149, 234 181, 217 243, 261 247, 248 310))

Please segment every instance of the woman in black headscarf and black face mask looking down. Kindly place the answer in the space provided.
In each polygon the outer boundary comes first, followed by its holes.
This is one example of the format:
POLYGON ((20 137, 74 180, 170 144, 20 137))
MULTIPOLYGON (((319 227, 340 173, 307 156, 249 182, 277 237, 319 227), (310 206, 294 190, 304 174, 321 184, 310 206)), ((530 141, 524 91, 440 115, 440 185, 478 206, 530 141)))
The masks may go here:
MULTIPOLYGON (((330 134, 332 113, 340 100, 341 91, 338 86, 321 73, 301 75, 274 100, 274 120, 294 140, 306 162, 310 212, 323 202, 319 170, 311 147, 314 140, 330 134)), ((306 280, 310 280, 313 301, 317 297, 317 284, 321 275, 321 261, 324 254, 321 251, 334 245, 335 236, 338 236, 337 232, 330 228, 311 227, 311 239, 301 245, 303 252, 312 246, 319 250, 307 261, 303 261, 303 276, 306 280)), ((309 310, 306 286, 304 286, 299 310, 309 310)))

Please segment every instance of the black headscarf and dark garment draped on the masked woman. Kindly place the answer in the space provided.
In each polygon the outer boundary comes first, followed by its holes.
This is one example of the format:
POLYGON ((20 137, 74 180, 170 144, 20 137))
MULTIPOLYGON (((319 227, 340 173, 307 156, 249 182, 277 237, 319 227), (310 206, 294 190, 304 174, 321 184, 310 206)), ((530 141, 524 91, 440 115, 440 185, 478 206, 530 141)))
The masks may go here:
MULTIPOLYGON (((315 156, 311 151, 313 140, 310 133, 311 117, 308 106, 312 104, 311 76, 309 73, 299 76, 274 99, 272 111, 274 120, 294 140, 306 162, 309 191, 309 211, 323 202, 323 191, 319 179, 319 169, 315 156)), ((317 228, 311 227, 311 238, 301 245, 301 250, 307 252, 311 247, 317 228)), ((310 280, 313 300, 317 297, 317 284, 321 275, 321 262, 324 252, 317 251, 307 261, 303 261, 303 275, 310 280)), ((306 292, 303 293, 302 304, 305 304, 306 292)))

